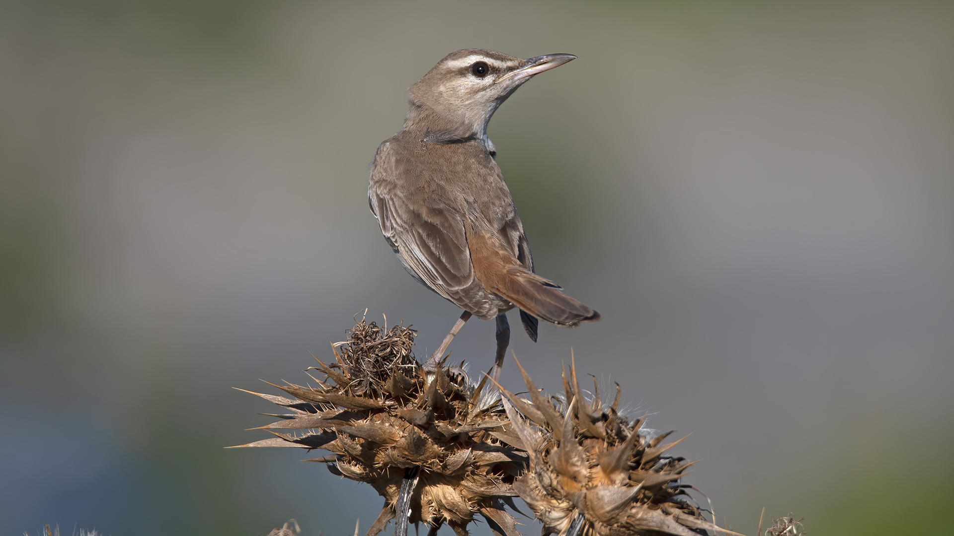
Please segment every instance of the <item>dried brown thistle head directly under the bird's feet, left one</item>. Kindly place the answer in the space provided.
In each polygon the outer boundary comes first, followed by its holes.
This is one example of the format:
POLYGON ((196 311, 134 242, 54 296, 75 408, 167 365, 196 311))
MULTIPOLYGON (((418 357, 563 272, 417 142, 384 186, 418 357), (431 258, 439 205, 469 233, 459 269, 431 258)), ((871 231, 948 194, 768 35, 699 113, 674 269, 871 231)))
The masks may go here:
POLYGON ((498 536, 518 536, 504 505, 512 507, 512 483, 526 457, 491 433, 508 423, 499 399, 487 396, 484 382, 473 385, 440 365, 425 371, 411 352, 416 332, 409 327, 385 331, 362 319, 347 333, 332 344, 336 362, 316 358, 312 368, 326 376, 312 377, 317 386, 275 385, 295 399, 253 393, 292 413, 269 414, 281 419, 261 426, 274 438, 239 446, 332 452, 311 461, 384 497, 368 536, 395 518, 403 483, 410 523, 446 523, 464 535, 481 514, 498 536))

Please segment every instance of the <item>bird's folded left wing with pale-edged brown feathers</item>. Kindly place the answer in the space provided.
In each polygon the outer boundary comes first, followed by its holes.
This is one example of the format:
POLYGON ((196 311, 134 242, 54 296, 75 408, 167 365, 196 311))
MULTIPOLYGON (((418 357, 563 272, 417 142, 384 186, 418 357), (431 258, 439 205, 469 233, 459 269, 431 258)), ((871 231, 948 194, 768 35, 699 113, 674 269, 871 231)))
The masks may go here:
POLYGON ((494 305, 474 276, 467 249, 465 215, 440 189, 424 192, 400 158, 382 146, 371 170, 368 202, 384 238, 404 267, 459 307, 487 319, 494 305))

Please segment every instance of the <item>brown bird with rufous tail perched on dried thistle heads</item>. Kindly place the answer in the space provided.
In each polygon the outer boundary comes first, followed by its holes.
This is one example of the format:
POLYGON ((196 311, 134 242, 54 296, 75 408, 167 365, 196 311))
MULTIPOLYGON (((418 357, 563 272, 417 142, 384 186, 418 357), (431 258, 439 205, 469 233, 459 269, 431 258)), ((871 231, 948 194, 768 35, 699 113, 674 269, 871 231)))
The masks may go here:
POLYGON ((527 235, 497 166, 487 123, 530 78, 576 56, 521 59, 467 49, 447 54, 407 93, 402 130, 371 163, 368 204, 384 239, 413 278, 464 309, 427 361, 442 361, 472 316, 496 321, 498 380, 510 340, 507 311, 520 310, 529 338, 538 320, 574 327, 600 314, 536 275, 527 235))

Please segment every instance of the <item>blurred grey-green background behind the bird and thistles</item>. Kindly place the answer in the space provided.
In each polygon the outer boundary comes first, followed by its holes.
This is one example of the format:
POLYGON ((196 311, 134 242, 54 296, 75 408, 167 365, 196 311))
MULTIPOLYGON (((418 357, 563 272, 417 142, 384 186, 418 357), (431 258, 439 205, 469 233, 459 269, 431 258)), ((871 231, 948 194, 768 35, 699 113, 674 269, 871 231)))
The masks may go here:
MULTIPOLYGON (((382 499, 315 453, 223 450, 274 411, 232 387, 307 381, 365 307, 420 330, 419 357, 444 337, 459 310, 391 254, 367 170, 406 88, 471 47, 579 56, 489 129, 539 273, 603 315, 515 328, 537 384, 572 349, 633 415, 692 432, 686 482, 740 532, 762 507, 811 534, 943 532, 952 21, 928 1, 3 2, 0 532, 363 534, 382 499)), ((452 359, 487 368, 493 329, 468 322, 452 359)))

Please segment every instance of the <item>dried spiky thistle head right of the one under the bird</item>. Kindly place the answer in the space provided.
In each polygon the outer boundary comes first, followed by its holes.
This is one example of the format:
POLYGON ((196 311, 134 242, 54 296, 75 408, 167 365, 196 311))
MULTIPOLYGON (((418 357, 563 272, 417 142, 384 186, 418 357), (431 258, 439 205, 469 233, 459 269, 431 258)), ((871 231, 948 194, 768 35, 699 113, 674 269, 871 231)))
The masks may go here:
POLYGON ((543 522, 543 536, 724 531, 686 500, 689 486, 680 479, 691 463, 665 454, 682 440, 660 444, 672 432, 651 438, 640 430, 642 419, 631 425, 619 415, 618 384, 611 404, 600 400, 598 386, 587 402, 575 365, 570 370, 570 381, 563 375, 566 399, 554 404, 520 367, 531 401, 502 388, 513 431, 493 432, 529 455, 513 489, 543 522))

